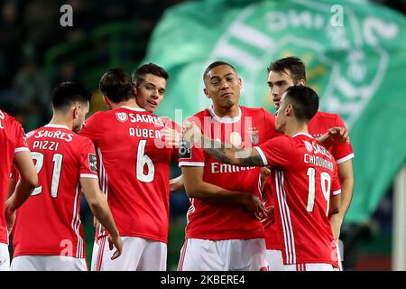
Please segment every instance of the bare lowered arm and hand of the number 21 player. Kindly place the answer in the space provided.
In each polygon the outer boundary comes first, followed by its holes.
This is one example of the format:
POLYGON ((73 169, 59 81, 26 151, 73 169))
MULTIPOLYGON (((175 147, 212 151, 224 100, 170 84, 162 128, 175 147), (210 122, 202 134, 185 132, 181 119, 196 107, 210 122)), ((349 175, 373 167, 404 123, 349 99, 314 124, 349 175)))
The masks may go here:
POLYGON ((110 243, 110 250, 113 249, 113 245, 116 249, 111 257, 111 259, 114 260, 121 255, 124 244, 123 240, 120 238, 118 229, 115 226, 115 220, 108 207, 106 197, 100 191, 97 179, 80 178, 80 185, 85 193, 86 200, 88 200, 88 206, 93 215, 109 233, 108 241, 110 243))

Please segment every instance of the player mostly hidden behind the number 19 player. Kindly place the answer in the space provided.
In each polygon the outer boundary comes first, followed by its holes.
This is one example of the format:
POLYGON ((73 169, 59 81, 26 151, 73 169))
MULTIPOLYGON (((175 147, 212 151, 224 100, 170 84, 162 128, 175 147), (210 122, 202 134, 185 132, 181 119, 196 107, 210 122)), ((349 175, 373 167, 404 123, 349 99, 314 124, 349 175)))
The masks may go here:
MULTIPOLYGON (((293 85, 306 85, 306 68, 303 61, 296 57, 286 57, 273 61, 268 67, 268 86, 273 104, 277 109, 280 107, 281 95, 293 85)), ((318 111, 309 122, 309 134, 318 137, 334 126, 346 127, 341 117, 337 114, 318 111)), ((354 158, 354 153, 351 144, 340 142, 332 144, 329 150, 337 160, 338 177, 342 190, 340 211, 330 219, 333 235, 338 239, 341 224, 346 216, 346 211, 349 208, 353 195, 354 174, 352 159, 354 158)), ((275 229, 276 226, 265 229, 267 256, 270 266, 274 265, 280 268, 283 240, 274 234, 275 229)), ((341 268, 341 262, 338 262, 338 264, 341 268)))

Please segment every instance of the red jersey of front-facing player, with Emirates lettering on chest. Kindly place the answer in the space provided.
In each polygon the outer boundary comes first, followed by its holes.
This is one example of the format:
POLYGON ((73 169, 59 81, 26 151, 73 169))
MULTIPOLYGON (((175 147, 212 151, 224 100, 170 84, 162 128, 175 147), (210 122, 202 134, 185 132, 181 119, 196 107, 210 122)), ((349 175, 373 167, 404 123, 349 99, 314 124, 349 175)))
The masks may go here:
MULTIPOLYGON (((238 117, 217 117, 213 107, 189 121, 195 122, 204 135, 226 144, 245 147, 262 144, 276 134, 272 114, 263 108, 240 107, 238 117)), ((244 191, 259 196, 258 167, 239 167, 217 161, 199 147, 180 145, 180 166, 204 167, 203 182, 229 191, 244 191)), ((212 205, 190 199, 186 238, 248 239, 263 238, 263 226, 240 208, 212 205)))

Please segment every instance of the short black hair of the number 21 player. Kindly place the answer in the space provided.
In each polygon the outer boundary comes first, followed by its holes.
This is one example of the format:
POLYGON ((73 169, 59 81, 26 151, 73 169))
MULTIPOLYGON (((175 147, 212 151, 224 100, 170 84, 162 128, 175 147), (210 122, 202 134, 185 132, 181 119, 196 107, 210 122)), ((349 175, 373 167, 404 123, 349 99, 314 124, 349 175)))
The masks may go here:
POLYGON ((52 107, 55 110, 61 110, 71 106, 75 102, 87 103, 91 99, 91 92, 77 82, 61 82, 53 89, 52 107))

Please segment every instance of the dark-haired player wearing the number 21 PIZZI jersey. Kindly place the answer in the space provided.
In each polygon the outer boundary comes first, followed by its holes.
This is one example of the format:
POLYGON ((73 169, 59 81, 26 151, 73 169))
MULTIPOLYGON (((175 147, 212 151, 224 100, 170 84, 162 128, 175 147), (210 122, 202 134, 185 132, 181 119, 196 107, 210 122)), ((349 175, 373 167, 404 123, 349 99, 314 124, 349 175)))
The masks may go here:
POLYGON ((121 255, 123 241, 98 186, 95 148, 76 134, 90 99, 91 93, 77 83, 61 83, 53 91, 50 123, 27 134, 39 182, 17 210, 12 270, 88 269, 79 212, 82 190, 90 210, 110 232, 113 259, 121 255))

